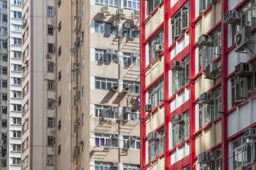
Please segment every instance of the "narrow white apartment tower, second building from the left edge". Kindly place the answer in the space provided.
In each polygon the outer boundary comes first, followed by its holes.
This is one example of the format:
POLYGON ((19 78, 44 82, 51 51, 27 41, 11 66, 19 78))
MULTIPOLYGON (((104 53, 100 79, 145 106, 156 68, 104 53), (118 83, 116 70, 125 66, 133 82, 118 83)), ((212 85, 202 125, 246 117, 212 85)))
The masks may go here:
POLYGON ((8 169, 20 169, 22 117, 21 0, 8 1, 8 169))

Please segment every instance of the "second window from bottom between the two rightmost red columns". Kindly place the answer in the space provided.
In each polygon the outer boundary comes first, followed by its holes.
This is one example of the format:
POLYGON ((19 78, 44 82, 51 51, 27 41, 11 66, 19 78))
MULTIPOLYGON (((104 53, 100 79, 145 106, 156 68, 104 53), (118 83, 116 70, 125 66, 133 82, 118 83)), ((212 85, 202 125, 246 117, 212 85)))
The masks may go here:
POLYGON ((215 118, 220 117, 221 89, 212 92, 212 103, 199 104, 199 127, 202 128, 215 118))

